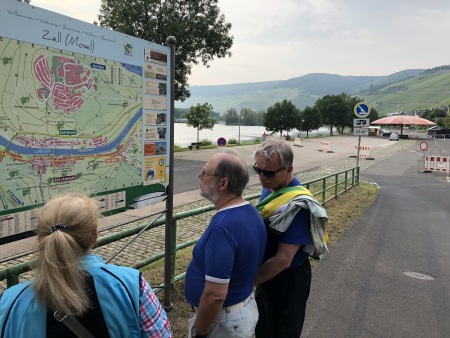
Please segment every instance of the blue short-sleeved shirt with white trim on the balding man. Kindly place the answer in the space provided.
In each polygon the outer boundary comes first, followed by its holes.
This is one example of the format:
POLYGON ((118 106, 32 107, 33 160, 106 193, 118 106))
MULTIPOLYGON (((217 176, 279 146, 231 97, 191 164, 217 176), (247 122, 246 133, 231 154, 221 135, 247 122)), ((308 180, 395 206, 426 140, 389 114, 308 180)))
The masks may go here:
POLYGON ((185 297, 198 307, 205 281, 228 284, 224 307, 245 300, 262 263, 266 229, 248 202, 219 210, 197 242, 186 271, 185 297))

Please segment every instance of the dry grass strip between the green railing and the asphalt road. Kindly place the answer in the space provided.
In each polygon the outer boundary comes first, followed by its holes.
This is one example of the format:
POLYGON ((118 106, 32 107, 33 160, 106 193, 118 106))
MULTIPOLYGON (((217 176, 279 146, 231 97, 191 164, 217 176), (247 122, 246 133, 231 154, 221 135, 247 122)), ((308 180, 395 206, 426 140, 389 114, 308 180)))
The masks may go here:
MULTIPOLYGON (((375 185, 361 182, 335 199, 326 203, 329 217, 328 235, 329 255, 333 254, 333 243, 351 227, 351 225, 370 207, 378 195, 378 188, 375 185)), ((175 275, 186 271, 192 258, 192 248, 185 248, 176 253, 175 275)), ((312 261, 312 266, 316 267, 320 261, 312 261)), ((313 271, 314 273, 314 271, 313 271)), ((151 285, 160 285, 164 281, 164 260, 155 262, 142 269, 142 274, 151 285)), ((163 302, 164 292, 158 293, 158 298, 163 302)), ((187 320, 192 315, 192 309, 184 299, 184 280, 175 284, 172 290, 171 311, 167 312, 174 337, 187 337, 187 320)))

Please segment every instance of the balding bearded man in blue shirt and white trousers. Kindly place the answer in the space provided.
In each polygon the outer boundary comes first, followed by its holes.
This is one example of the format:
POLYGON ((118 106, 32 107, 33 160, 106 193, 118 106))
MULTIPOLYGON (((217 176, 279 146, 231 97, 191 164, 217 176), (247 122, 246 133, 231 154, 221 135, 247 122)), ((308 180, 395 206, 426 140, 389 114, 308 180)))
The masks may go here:
POLYGON ((235 154, 218 153, 197 176, 201 195, 217 211, 186 271, 185 297, 194 310, 189 338, 251 338, 258 321, 253 280, 267 235, 258 211, 242 198, 247 166, 235 154))

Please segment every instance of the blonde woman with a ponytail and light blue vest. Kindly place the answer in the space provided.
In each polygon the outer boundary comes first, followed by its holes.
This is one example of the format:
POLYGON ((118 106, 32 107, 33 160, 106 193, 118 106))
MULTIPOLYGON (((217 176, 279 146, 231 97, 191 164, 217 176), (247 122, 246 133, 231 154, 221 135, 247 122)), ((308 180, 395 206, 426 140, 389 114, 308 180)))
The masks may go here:
POLYGON ((167 315, 140 272, 92 254, 99 216, 97 203, 82 194, 44 205, 36 277, 3 293, 1 337, 172 337, 167 315), (79 329, 87 333, 74 333, 79 329))

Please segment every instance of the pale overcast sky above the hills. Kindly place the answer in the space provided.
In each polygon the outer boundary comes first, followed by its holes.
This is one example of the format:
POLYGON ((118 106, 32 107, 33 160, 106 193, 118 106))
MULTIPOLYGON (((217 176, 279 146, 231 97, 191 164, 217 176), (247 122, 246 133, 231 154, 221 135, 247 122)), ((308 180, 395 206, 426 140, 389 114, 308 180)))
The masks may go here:
MULTIPOLYGON (((92 23, 100 0, 32 0, 92 23)), ((189 84, 286 80, 309 73, 389 75, 450 64, 449 0, 219 0, 232 57, 189 84)))

